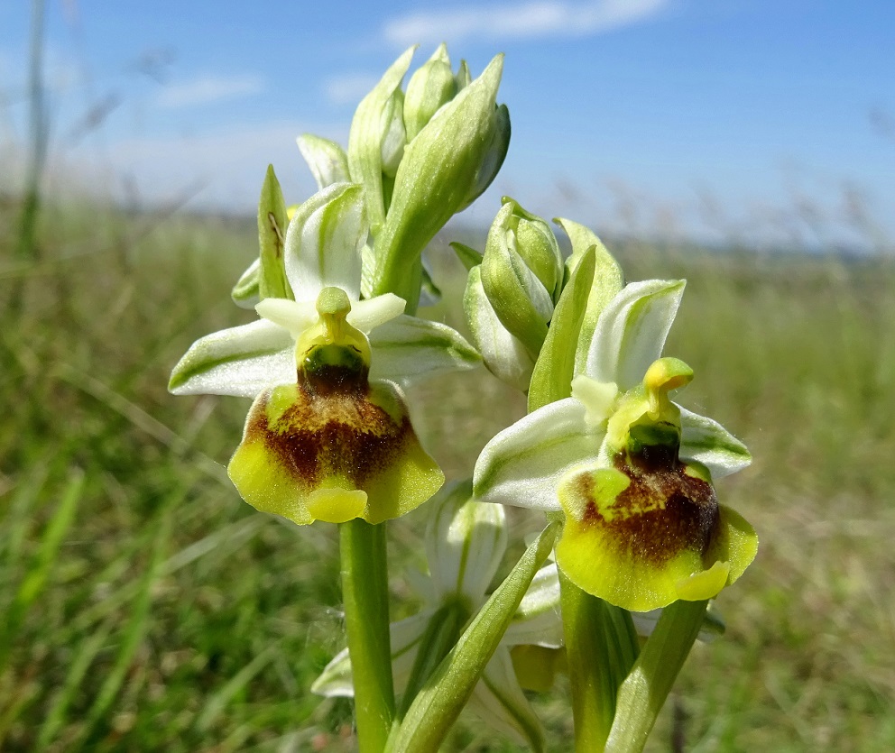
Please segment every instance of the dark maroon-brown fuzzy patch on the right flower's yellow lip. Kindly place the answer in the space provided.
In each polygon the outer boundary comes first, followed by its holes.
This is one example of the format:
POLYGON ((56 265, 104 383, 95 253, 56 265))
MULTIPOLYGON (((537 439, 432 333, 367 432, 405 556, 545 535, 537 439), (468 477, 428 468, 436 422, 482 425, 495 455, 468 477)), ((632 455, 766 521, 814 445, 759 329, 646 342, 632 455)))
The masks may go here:
POLYGON ((676 448, 650 446, 637 455, 619 453, 613 464, 631 483, 615 499, 612 519, 593 501, 591 476, 582 473, 575 480, 575 491, 588 500, 584 525, 598 524, 620 550, 653 565, 663 565, 686 549, 706 554, 718 528, 717 497, 710 483, 687 473, 676 448))

